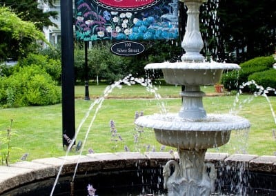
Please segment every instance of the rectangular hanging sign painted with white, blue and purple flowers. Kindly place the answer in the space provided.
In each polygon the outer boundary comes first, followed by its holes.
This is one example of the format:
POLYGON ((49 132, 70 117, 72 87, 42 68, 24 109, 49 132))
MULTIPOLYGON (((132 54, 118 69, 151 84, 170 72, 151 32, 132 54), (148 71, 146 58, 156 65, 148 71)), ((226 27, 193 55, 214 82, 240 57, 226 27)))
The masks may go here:
POLYGON ((75 0, 83 41, 178 38, 178 0, 75 0))

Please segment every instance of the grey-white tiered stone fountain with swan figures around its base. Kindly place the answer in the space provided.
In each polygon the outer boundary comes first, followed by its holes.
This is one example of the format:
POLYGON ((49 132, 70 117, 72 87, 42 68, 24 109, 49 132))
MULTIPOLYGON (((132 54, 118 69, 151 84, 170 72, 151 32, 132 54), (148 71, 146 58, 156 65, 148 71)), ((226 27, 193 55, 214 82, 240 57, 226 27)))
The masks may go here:
POLYGON ((180 1, 188 8, 186 34, 181 44, 186 53, 180 62, 150 63, 145 69, 161 69, 168 84, 185 86, 181 92, 183 104, 178 114, 139 117, 135 124, 153 128, 159 143, 178 149, 179 163, 170 160, 164 166, 164 188, 168 188, 168 195, 210 195, 215 191, 217 171, 213 164, 204 163, 206 150, 226 144, 231 130, 249 128, 250 123, 235 115, 206 114, 202 104, 205 93, 200 86, 217 83, 223 70, 239 66, 204 61, 199 53, 204 46, 199 32, 199 7, 205 0, 180 1))

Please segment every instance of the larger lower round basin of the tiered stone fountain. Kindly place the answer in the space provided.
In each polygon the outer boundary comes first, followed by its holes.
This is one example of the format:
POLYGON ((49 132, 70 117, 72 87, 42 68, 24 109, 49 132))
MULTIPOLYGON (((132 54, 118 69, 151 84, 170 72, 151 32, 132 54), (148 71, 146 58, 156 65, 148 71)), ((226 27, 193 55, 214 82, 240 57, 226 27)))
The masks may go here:
POLYGON ((191 120, 177 114, 139 117, 135 124, 155 130, 159 143, 175 148, 200 150, 226 144, 231 130, 250 128, 247 119, 235 115, 207 115, 206 119, 191 120))

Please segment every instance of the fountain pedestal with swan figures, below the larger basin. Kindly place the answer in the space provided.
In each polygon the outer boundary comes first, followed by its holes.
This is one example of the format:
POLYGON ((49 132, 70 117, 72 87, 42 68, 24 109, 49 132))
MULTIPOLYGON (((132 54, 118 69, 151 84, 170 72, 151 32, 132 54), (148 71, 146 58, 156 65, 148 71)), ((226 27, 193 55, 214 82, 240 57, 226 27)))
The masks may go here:
POLYGON ((168 188, 168 195, 198 196, 215 192, 217 170, 214 164, 204 163, 206 149, 179 149, 178 153, 179 163, 170 160, 163 170, 164 188, 168 188), (174 167, 172 175, 171 166, 174 167))

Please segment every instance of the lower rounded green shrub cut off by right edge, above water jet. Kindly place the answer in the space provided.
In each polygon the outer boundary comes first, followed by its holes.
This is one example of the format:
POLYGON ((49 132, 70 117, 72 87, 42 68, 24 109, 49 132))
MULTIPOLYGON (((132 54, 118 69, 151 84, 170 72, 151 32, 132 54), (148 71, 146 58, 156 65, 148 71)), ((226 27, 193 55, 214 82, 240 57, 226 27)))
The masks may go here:
MULTIPOLYGON (((276 70, 271 68, 269 70, 265 70, 263 72, 255 72, 253 75, 248 77, 248 80, 254 80, 257 85, 262 86, 264 88, 276 88, 276 70)), ((254 92, 256 87, 251 85, 250 90, 254 92)))

